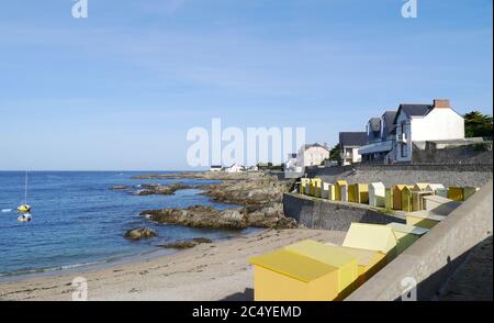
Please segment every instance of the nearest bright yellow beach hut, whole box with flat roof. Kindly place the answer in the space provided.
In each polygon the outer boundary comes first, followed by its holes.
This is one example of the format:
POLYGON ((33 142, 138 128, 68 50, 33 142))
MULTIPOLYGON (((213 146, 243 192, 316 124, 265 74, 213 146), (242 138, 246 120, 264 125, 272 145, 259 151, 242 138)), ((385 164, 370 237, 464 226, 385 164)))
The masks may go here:
POLYGON ((338 268, 285 249, 250 258, 256 301, 333 301, 338 268))

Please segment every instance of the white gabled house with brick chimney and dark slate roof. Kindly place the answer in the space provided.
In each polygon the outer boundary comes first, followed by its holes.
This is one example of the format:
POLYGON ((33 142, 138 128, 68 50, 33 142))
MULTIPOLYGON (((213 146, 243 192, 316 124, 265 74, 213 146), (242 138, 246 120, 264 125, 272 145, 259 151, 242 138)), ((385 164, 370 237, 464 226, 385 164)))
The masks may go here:
POLYGON ((449 100, 433 104, 401 104, 394 119, 396 144, 393 162, 412 162, 414 142, 464 138, 464 120, 450 108, 449 100))

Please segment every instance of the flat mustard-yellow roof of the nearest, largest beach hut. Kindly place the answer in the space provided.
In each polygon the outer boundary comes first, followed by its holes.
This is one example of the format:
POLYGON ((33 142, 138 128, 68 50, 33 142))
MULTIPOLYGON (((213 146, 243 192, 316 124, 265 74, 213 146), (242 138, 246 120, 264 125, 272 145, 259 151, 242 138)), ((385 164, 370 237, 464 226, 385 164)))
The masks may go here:
POLYGON ((284 249, 250 258, 252 265, 308 282, 338 268, 284 249))

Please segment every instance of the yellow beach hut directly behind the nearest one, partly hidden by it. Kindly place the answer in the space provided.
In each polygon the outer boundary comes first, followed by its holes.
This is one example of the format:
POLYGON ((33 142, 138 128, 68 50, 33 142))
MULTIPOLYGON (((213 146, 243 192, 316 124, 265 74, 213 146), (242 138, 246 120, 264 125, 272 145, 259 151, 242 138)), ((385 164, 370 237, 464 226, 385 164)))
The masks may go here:
POLYGON ((287 246, 284 249, 338 268, 336 285, 340 297, 347 296, 355 288, 353 285, 358 278, 358 260, 357 257, 345 253, 341 247, 307 240, 287 246))

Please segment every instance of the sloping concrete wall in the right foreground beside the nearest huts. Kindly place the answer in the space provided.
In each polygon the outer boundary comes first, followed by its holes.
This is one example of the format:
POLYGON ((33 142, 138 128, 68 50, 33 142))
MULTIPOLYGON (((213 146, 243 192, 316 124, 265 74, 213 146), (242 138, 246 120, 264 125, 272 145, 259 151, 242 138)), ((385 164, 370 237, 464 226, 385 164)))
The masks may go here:
POLYGON ((469 253, 493 231, 492 180, 402 255, 355 291, 348 301, 398 300, 406 278, 418 300, 433 300, 469 253))

